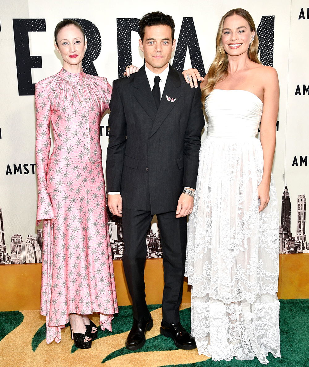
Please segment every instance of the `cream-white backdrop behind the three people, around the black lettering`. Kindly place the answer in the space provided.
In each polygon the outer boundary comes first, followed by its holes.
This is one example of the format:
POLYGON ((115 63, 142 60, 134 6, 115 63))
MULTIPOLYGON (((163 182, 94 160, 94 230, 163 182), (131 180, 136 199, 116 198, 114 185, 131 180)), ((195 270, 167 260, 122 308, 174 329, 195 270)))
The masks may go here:
MULTIPOLYGON (((16 75, 16 56, 12 19, 43 18, 46 32, 29 32, 30 55, 41 55, 42 68, 32 69, 32 82, 36 83, 53 75, 62 68, 60 55, 55 51, 53 31, 55 25, 64 18, 83 18, 94 23, 101 34, 102 48, 94 61, 99 76, 107 77, 110 84, 118 78, 117 54, 117 18, 141 18, 146 12, 160 10, 174 18, 175 38, 179 36, 183 17, 193 17, 205 70, 209 68, 215 55, 215 37, 222 15, 233 7, 243 7, 252 15, 256 27, 265 15, 275 16, 273 67, 277 70, 280 81, 279 131, 273 175, 279 202, 287 182, 291 197, 291 231, 295 236, 297 195, 309 195, 308 166, 302 163, 308 146, 308 99, 303 93, 303 85, 308 86, 307 61, 309 58, 307 30, 309 20, 307 8, 305 19, 299 18, 300 0, 218 0, 197 1, 179 0, 167 2, 157 0, 155 5, 149 1, 123 0, 95 1, 67 0, 2 0, 0 3, 0 207, 3 212, 5 244, 9 251, 11 236, 36 234, 37 183, 36 174, 14 174, 13 165, 35 163, 35 115, 34 96, 19 95, 16 75), (301 95, 295 95, 297 85, 301 95), (294 157, 298 166, 292 166, 294 157), (8 164, 12 174, 7 172, 8 164)), ((142 54, 138 48, 138 34, 131 32, 132 62, 141 66, 142 54)), ((16 50, 23 57, 23 50, 16 50)), ((189 52, 185 60, 185 69, 191 67, 189 52)), ((103 167, 105 166, 108 137, 105 126, 108 114, 101 122, 104 126, 101 146, 103 167)), ((203 137, 205 138, 204 132, 203 137)), ((25 170, 23 169, 22 172, 25 170)), ((1 250, 1 249, 0 249, 1 250)))

